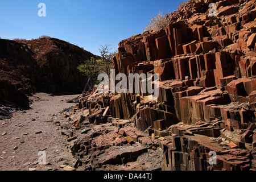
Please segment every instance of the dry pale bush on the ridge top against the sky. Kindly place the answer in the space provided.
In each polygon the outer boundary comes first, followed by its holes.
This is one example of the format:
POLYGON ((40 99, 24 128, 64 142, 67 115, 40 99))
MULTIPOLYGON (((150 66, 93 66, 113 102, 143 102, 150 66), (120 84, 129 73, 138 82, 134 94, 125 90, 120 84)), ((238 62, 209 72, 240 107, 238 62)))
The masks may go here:
POLYGON ((170 23, 170 20, 166 17, 166 13, 159 12, 153 16, 150 23, 144 28, 143 32, 155 30, 159 31, 161 28, 165 28, 170 23))

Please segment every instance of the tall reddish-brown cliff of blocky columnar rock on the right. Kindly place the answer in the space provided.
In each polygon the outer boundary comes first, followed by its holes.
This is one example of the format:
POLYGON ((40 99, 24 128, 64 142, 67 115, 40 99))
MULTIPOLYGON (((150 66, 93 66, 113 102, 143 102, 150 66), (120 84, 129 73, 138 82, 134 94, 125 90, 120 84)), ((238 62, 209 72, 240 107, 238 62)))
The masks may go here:
POLYGON ((167 15, 166 28, 122 40, 113 76, 158 73, 158 99, 95 88, 80 96, 80 108, 91 123, 126 119, 164 138, 163 170, 255 170, 255 2, 191 0, 167 15))

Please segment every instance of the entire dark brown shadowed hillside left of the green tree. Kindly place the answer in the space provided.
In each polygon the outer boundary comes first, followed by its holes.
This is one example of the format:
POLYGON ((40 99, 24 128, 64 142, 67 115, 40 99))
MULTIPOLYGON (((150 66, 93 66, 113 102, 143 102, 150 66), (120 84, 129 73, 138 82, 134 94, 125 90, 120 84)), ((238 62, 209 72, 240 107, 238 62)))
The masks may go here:
POLYGON ((53 38, 0 39, 0 99, 28 106, 24 94, 80 93, 86 78, 77 67, 90 57, 97 56, 53 38))

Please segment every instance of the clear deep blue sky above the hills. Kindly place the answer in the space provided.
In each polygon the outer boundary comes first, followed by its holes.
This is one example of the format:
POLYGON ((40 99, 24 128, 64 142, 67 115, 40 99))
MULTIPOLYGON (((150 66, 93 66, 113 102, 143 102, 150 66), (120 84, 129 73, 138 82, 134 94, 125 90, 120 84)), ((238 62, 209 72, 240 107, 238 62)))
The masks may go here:
POLYGON ((159 11, 177 9, 182 0, 0 0, 2 39, 36 39, 41 35, 65 40, 96 55, 101 45, 141 34, 159 11), (39 17, 39 3, 46 17, 39 17))

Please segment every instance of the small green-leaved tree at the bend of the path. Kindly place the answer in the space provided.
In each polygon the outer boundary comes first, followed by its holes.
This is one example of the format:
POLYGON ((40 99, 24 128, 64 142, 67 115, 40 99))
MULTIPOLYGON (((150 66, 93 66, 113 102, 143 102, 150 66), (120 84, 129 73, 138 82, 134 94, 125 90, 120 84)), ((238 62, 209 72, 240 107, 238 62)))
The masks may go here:
POLYGON ((102 60, 96 60, 94 57, 91 57, 89 60, 86 60, 84 63, 80 64, 77 69, 79 69, 82 75, 88 77, 84 90, 82 90, 82 92, 85 92, 87 87, 92 89, 93 85, 99 82, 97 81, 98 74, 103 72, 104 65, 102 64, 102 60))

